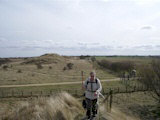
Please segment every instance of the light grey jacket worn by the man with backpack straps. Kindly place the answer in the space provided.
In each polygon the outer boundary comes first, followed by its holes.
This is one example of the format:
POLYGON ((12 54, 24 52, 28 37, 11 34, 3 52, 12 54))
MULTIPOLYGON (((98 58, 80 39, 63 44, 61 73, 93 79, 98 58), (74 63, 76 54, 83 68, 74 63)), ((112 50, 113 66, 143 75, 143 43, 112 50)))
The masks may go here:
POLYGON ((99 92, 102 90, 102 85, 100 80, 98 78, 96 79, 94 79, 94 81, 91 81, 89 77, 85 80, 83 84, 86 90, 85 97, 90 100, 97 99, 99 97, 99 92), (96 83, 96 79, 97 79, 97 83, 96 83), (97 95, 95 95, 95 92, 97 93, 97 95))

